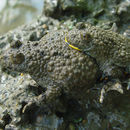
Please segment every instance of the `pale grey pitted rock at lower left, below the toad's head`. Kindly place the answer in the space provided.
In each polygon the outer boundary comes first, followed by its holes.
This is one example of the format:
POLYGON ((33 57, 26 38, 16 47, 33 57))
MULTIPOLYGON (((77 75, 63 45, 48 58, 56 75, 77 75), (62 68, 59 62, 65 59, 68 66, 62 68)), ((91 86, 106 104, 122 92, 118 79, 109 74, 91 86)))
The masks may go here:
POLYGON ((4 73, 1 75, 0 103, 2 105, 0 106, 0 118, 5 122, 5 125, 11 122, 19 123, 22 120, 21 110, 23 105, 36 97, 35 94, 27 90, 30 79, 27 76, 27 82, 23 82, 25 77, 19 76, 16 80, 16 78, 4 73))

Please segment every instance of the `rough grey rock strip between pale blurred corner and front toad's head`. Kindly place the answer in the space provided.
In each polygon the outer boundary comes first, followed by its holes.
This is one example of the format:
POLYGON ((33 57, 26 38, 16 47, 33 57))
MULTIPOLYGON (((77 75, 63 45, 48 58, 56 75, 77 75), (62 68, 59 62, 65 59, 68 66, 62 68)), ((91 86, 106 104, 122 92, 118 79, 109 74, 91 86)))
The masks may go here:
MULTIPOLYGON (((0 36, 0 48, 6 49, 10 42, 14 41, 37 41, 40 40, 48 31, 48 29, 57 29, 59 21, 47 17, 40 17, 37 21, 28 25, 23 25, 15 30, 9 31, 7 34, 0 36), (49 28, 44 28, 46 24, 49 28)), ((0 50, 1 51, 1 50, 0 50)))

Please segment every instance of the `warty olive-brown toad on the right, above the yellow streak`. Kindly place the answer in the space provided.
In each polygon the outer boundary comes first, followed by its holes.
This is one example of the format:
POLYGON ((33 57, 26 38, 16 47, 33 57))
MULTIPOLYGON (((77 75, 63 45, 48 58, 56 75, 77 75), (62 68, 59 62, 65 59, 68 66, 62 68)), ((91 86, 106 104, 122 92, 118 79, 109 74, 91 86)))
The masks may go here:
POLYGON ((95 58, 101 67, 104 63, 120 67, 130 66, 129 38, 89 24, 82 31, 77 29, 75 32, 68 32, 68 41, 95 58))

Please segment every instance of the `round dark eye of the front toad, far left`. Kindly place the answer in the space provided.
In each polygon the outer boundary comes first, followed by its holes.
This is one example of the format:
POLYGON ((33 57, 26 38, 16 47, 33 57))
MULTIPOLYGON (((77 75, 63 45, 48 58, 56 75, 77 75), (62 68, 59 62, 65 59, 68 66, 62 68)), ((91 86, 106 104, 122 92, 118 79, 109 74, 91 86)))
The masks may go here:
POLYGON ((10 60, 13 64, 21 64, 24 62, 25 57, 24 54, 22 53, 16 53, 10 56, 10 60))

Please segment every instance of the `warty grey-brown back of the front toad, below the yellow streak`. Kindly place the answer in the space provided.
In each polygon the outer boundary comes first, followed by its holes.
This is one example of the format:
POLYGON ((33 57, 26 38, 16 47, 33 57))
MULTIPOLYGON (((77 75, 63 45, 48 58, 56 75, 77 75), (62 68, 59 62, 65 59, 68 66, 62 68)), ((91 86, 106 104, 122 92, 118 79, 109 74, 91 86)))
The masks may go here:
POLYGON ((97 64, 89 56, 66 45, 65 33, 51 32, 38 44, 30 44, 32 59, 28 63, 28 72, 39 84, 54 81, 64 86, 87 86, 97 77, 97 64))

